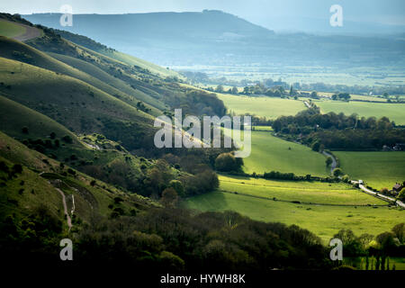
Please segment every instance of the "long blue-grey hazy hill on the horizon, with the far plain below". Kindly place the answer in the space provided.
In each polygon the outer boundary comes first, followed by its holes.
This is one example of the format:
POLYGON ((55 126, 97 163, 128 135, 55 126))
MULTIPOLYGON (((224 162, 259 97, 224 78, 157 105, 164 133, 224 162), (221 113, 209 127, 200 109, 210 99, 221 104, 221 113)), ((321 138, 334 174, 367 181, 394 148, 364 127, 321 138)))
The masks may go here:
MULTIPOLYGON (((85 35, 164 66, 399 66, 405 42, 388 36, 278 34, 220 11, 151 14, 24 15, 32 23, 85 35)), ((328 24, 328 23, 327 23, 328 24)))

